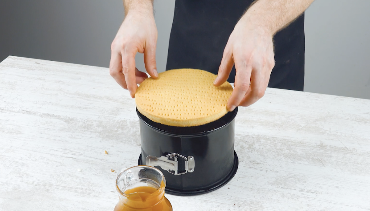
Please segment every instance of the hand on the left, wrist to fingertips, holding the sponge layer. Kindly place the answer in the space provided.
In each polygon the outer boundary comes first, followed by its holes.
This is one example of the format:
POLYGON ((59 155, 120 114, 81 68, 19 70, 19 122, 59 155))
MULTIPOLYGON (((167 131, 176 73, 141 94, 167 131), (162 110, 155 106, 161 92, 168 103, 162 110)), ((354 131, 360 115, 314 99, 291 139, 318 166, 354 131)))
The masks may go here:
POLYGON ((152 78, 158 78, 155 49, 158 31, 153 14, 144 15, 142 11, 130 11, 125 17, 111 50, 109 65, 110 75, 124 89, 128 89, 132 98, 135 97, 137 84, 148 78, 135 66, 137 52, 144 53, 145 69, 152 78))

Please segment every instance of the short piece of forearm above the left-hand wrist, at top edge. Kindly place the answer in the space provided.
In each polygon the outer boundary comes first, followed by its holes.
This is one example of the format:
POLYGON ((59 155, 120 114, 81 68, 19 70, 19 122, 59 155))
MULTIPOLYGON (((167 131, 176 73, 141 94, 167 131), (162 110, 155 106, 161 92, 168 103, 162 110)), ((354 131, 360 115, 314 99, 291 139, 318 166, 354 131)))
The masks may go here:
POLYGON ((152 15, 153 1, 154 0, 123 0, 125 16, 127 16, 130 11, 143 15, 152 15))

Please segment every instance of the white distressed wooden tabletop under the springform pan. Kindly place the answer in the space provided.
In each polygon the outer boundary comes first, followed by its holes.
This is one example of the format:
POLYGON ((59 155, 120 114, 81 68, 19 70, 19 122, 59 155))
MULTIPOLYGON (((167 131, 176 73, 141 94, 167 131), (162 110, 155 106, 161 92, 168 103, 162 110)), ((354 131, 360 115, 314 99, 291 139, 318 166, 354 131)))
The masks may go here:
MULTIPOLYGON (((370 210, 370 100, 268 88, 235 130, 235 177, 167 194, 175 211, 370 210)), ((140 152, 135 101, 107 68, 0 63, 1 211, 113 210, 111 169, 140 152)))

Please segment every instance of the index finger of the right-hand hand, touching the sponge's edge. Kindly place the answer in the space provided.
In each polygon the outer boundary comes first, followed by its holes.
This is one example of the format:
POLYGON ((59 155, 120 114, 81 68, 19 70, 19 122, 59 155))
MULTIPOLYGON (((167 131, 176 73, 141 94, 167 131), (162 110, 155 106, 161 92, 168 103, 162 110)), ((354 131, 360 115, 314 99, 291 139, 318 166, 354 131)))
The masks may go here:
POLYGON ((235 88, 228 101, 228 110, 233 111, 236 106, 242 102, 245 94, 249 89, 250 73, 252 72, 251 66, 240 66, 235 62, 235 88))

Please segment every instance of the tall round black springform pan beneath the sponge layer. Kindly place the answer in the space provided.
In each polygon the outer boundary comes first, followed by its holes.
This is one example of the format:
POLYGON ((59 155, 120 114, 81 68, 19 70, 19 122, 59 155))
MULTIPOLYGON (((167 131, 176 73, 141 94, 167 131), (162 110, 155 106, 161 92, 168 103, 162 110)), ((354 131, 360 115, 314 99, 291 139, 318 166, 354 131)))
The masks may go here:
POLYGON ((234 151, 238 108, 214 122, 193 127, 162 125, 136 111, 141 137, 138 165, 161 170, 166 193, 203 194, 233 178, 238 169, 234 151))

